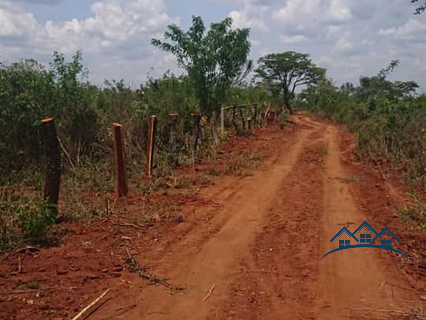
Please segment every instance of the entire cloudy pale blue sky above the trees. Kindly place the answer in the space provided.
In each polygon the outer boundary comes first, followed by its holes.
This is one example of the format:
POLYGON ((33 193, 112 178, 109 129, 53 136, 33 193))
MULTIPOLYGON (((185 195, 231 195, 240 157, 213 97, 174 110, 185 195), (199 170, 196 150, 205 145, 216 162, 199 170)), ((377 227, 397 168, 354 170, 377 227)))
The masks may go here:
POLYGON ((413 11, 409 0, 0 0, 0 59, 48 63, 54 51, 80 49, 90 81, 137 87, 148 74, 181 73, 173 56, 150 45, 168 24, 229 16, 251 29, 255 61, 271 52, 309 53, 342 84, 398 59, 391 78, 415 80, 425 91, 426 14, 413 11))

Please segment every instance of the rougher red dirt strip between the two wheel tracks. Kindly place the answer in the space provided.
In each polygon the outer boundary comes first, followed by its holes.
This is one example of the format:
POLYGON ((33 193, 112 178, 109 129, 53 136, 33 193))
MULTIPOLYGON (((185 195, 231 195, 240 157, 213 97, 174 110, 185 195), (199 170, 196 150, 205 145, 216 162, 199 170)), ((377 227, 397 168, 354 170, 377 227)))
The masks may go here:
POLYGON ((209 319, 314 319, 323 146, 322 129, 311 131, 297 165, 268 206, 252 256, 242 263, 227 303, 209 319))

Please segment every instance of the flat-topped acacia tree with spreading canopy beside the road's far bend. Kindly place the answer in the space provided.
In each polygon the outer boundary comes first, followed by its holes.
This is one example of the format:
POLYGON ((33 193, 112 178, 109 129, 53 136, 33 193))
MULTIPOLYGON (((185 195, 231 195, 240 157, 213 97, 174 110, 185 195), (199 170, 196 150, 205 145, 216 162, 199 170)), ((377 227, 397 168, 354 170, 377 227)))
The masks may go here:
POLYGON ((325 69, 317 67, 309 55, 287 51, 272 53, 259 59, 256 77, 284 100, 284 107, 293 113, 291 100, 296 87, 315 84, 325 76, 325 69), (277 90, 278 88, 278 90, 277 90))

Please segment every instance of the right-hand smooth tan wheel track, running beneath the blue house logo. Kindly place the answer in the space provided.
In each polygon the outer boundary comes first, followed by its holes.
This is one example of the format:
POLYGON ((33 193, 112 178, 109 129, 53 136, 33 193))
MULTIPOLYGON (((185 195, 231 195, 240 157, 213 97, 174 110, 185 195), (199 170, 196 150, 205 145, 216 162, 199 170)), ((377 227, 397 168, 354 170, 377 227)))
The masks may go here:
MULTIPOLYGON (((328 145, 326 176, 324 177, 324 211, 321 219, 322 254, 337 247, 330 239, 343 227, 357 228, 368 216, 359 209, 356 198, 348 184, 340 181, 345 177, 341 164, 339 132, 335 126, 328 126, 325 133, 328 145)), ((381 230, 383 226, 372 226, 381 230)), ((345 238, 346 239, 346 238, 345 238)), ((349 239, 349 238, 347 238, 349 239)), ((353 240, 352 240, 353 241, 353 240)), ((378 250, 353 248, 324 257, 319 262, 318 283, 320 299, 317 301, 317 319, 382 319, 381 314, 360 313, 353 309, 382 308, 395 309, 392 293, 381 289, 383 282, 390 281, 402 285, 402 276, 388 261, 380 263, 378 250)), ((322 255, 321 255, 322 256, 322 255)), ((410 295, 401 293, 407 299, 410 295)), ((412 295, 411 295, 412 297, 412 295)))

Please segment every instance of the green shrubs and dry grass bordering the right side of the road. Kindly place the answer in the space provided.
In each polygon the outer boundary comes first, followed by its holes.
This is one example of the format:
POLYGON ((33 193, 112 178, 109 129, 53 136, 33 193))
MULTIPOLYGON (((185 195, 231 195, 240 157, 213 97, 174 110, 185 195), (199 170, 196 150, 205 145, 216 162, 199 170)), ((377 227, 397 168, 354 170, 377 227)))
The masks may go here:
POLYGON ((361 77, 359 86, 340 87, 330 79, 311 85, 298 96, 305 108, 358 134, 357 155, 403 170, 414 186, 426 188, 426 96, 414 95, 414 81, 389 81, 398 61, 376 76, 361 77))

